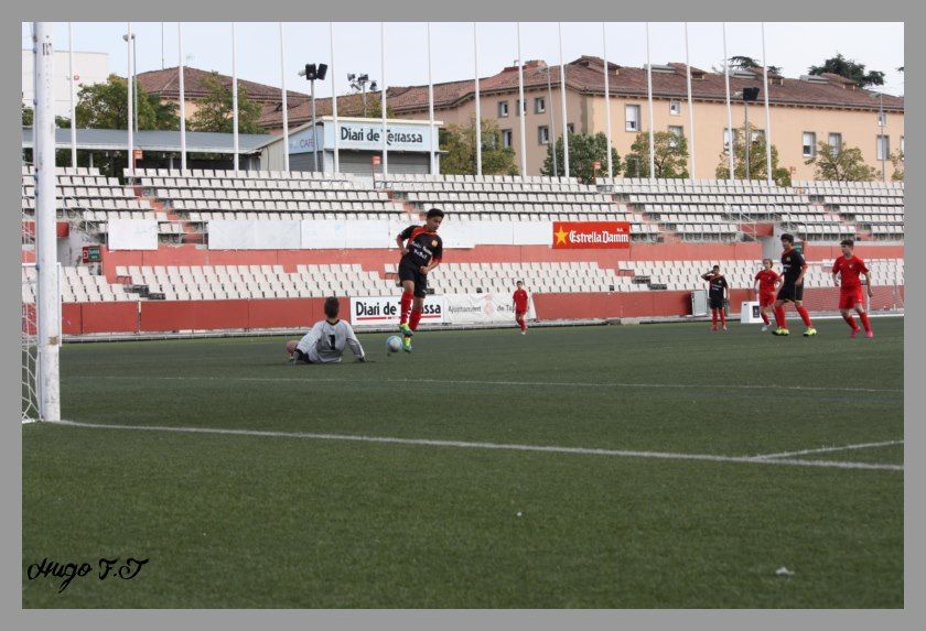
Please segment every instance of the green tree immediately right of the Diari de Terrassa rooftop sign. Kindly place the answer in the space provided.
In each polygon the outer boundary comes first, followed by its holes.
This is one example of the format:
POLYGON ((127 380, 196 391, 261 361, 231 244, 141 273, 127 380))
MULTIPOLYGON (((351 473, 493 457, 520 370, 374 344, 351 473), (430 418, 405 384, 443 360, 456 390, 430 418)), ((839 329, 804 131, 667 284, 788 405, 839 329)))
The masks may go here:
MULTIPOLYGON (((378 104, 377 104, 378 105, 378 104)), ((367 106, 369 107, 369 106, 367 106)), ((389 108, 387 106, 386 110, 389 108)), ((461 127, 449 124, 440 130, 441 173, 466 175, 476 172, 476 121, 461 127)), ((492 119, 482 120, 482 163, 484 175, 517 175, 515 150, 502 146, 502 130, 492 119)))

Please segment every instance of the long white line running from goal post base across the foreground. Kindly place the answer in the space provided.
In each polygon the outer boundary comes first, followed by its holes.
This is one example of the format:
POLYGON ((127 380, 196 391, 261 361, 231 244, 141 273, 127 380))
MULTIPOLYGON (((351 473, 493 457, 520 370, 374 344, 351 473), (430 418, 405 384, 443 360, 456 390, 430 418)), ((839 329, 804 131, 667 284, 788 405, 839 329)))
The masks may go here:
POLYGON ((635 452, 626 449, 596 449, 586 447, 559 447, 553 445, 517 445, 498 443, 472 443, 463 440, 432 440, 426 438, 394 438, 388 436, 357 436, 348 434, 313 434, 305 432, 267 432, 257 429, 223 429, 212 427, 163 427, 152 425, 110 425, 100 423, 77 423, 57 421, 47 423, 96 429, 128 429, 136 432, 174 432, 186 434, 218 434, 236 436, 262 436, 277 438, 309 438, 316 440, 349 440, 356 443, 379 443, 395 445, 418 445, 428 447, 455 447, 462 449, 500 449, 509 452, 540 452, 546 454, 573 454, 582 456, 612 456, 625 458, 660 458, 665 460, 706 460, 710 463, 746 463, 755 465, 778 465, 792 467, 828 467, 836 469, 879 469, 903 471, 902 465, 879 463, 840 463, 835 460, 788 460, 757 458, 755 456, 714 456, 711 454, 672 454, 664 452, 635 452))

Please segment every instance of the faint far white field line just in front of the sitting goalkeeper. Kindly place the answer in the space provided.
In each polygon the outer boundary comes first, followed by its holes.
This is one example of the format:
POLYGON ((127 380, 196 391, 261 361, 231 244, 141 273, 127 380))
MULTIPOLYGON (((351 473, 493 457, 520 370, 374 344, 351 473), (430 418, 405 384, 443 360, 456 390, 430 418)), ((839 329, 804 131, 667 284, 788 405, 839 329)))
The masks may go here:
MULTIPOLYGON (((294 370, 313 370, 314 367, 293 367, 294 370)), ((317 369, 316 369, 317 370, 317 369)), ((581 381, 481 381, 470 379, 331 379, 306 376, 294 377, 142 377, 134 374, 106 374, 106 376, 72 376, 69 379, 110 379, 110 380, 141 380, 141 381, 256 381, 256 382, 280 382, 299 381, 302 383, 444 383, 444 384, 470 384, 470 385, 539 385, 542 388, 653 388, 653 389, 694 389, 704 390, 717 388, 715 384, 706 383, 589 383, 581 381)), ((724 384, 726 390, 798 390, 806 392, 887 392, 903 393, 903 389, 891 388, 826 388, 815 385, 751 385, 751 384, 724 384)))

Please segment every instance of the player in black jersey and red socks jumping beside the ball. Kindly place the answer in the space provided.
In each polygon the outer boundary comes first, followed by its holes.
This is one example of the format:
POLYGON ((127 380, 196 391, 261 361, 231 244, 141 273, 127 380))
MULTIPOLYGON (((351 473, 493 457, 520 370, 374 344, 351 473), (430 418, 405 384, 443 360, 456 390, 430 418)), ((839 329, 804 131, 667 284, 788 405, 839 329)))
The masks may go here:
POLYGON ((443 255, 443 242, 438 228, 443 221, 443 210, 428 210, 423 226, 409 226, 396 237, 402 252, 399 261, 399 281, 402 284, 399 330, 402 331, 402 349, 411 352, 411 336, 418 330, 421 307, 428 295, 428 272, 438 266, 443 255))

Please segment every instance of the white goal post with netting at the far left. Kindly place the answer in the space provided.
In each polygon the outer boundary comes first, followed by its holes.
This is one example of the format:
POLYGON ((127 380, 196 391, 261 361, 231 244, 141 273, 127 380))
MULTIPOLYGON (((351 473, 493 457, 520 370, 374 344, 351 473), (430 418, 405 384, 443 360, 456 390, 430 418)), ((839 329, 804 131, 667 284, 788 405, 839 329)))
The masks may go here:
MULTIPOLYGON (((58 285, 55 198, 54 44, 51 22, 33 22, 35 215, 22 219, 22 420, 60 421, 58 285)), ((23 177, 28 175, 23 170, 23 177)))

